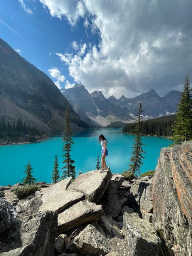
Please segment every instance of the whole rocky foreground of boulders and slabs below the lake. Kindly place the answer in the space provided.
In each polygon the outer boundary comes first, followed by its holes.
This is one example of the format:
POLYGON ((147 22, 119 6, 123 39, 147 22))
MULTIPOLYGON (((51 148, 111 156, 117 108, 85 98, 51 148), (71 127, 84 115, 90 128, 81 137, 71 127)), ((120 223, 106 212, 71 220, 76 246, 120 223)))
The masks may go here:
POLYGON ((90 171, 19 200, 0 187, 0 256, 190 256, 192 141, 164 148, 154 178, 90 171))

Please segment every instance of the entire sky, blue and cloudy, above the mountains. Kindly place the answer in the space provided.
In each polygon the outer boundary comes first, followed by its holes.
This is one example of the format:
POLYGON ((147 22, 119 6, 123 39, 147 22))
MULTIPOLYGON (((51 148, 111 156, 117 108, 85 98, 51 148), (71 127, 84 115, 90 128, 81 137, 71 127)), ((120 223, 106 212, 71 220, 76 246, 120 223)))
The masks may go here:
POLYGON ((192 77, 191 0, 0 0, 0 38, 59 88, 106 98, 192 77))

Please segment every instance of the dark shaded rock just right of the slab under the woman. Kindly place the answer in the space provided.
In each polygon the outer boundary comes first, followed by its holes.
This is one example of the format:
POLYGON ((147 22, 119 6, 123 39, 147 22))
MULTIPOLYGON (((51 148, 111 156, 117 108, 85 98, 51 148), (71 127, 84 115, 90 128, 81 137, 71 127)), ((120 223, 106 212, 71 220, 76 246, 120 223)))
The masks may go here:
POLYGON ((105 191, 105 194, 100 201, 106 215, 111 215, 113 218, 118 217, 122 212, 122 205, 119 201, 117 185, 114 181, 110 181, 105 191))

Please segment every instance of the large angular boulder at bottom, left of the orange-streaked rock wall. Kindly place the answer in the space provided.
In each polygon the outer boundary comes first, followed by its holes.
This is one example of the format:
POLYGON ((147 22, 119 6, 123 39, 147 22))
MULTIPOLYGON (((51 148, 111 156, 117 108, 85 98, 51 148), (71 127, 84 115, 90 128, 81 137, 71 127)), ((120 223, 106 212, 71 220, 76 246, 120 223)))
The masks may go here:
POLYGON ((169 255, 150 222, 127 212, 124 213, 123 221, 130 256, 169 255))

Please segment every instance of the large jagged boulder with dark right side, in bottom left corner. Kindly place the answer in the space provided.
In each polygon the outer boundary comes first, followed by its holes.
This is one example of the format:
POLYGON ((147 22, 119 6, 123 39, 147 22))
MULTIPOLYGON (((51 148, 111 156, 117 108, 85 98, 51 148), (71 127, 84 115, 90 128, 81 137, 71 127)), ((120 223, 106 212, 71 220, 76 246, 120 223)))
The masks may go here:
POLYGON ((12 226, 0 247, 2 256, 53 256, 58 213, 45 212, 23 217, 12 226))

